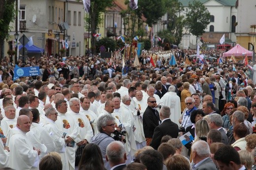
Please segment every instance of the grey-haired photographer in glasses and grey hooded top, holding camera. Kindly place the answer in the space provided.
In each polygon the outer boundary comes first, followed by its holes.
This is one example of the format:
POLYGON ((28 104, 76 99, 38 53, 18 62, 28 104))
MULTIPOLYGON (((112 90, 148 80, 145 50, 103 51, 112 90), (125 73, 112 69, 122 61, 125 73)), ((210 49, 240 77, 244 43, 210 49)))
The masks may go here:
POLYGON ((109 162, 106 161, 106 148, 109 143, 115 141, 110 135, 115 131, 115 119, 110 114, 104 114, 97 120, 97 129, 99 133, 95 135, 91 142, 98 145, 100 148, 104 166, 107 170, 110 169, 109 162))

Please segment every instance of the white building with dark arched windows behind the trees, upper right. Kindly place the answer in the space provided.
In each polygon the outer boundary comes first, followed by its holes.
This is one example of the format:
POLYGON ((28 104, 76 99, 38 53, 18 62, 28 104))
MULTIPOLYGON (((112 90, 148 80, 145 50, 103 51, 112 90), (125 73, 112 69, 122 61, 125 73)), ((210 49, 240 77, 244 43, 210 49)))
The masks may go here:
MULTIPOLYGON (((185 11, 192 0, 179 0, 185 11)), ((201 35, 205 43, 218 44, 225 34, 226 42, 236 42, 235 30, 237 21, 236 0, 199 0, 211 14, 210 24, 201 35)), ((200 37, 199 37, 200 38, 200 37)), ((196 48, 196 37, 186 34, 179 45, 180 48, 196 48)))

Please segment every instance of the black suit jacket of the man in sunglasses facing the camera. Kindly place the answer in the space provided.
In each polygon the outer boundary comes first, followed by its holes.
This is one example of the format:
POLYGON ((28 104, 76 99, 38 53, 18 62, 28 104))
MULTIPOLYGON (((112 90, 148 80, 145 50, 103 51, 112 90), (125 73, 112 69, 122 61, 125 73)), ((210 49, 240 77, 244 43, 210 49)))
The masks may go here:
MULTIPOLYGON (((159 125, 160 119, 157 117, 155 111, 156 110, 148 106, 143 114, 143 131, 145 138, 152 138, 155 128, 159 125)), ((158 113, 158 111, 156 112, 158 113)))

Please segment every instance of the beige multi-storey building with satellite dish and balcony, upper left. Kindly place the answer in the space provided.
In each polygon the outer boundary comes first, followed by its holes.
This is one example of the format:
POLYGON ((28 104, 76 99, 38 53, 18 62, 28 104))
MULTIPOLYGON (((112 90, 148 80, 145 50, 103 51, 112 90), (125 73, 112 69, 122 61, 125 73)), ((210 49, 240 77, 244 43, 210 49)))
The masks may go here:
MULTIPOLYGON (((32 36, 33 45, 45 49, 45 55, 58 54, 62 40, 68 37, 66 55, 84 55, 84 9, 76 0, 18 0, 18 33, 32 36), (68 23, 61 31, 58 24, 68 23), (60 44, 56 35, 60 33, 60 44)), ((15 33, 15 24, 10 35, 15 33)), ((8 49, 7 49, 8 50, 8 49)), ((5 49, 5 53, 7 53, 5 49)))

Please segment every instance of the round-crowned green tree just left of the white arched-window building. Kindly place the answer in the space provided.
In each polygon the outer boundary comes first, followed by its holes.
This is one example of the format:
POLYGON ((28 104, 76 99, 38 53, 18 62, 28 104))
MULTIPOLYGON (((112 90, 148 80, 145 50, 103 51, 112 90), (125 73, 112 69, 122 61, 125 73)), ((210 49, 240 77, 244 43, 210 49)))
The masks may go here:
POLYGON ((207 25, 210 24, 210 12, 203 3, 194 0, 192 3, 189 3, 186 13, 187 26, 197 39, 199 35, 205 32, 207 25))

